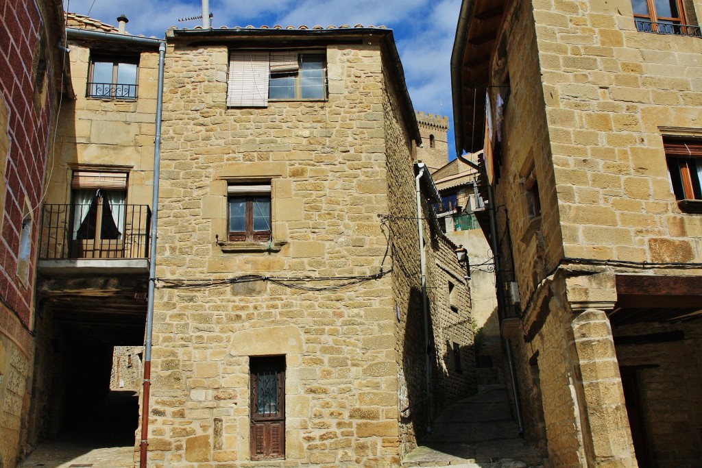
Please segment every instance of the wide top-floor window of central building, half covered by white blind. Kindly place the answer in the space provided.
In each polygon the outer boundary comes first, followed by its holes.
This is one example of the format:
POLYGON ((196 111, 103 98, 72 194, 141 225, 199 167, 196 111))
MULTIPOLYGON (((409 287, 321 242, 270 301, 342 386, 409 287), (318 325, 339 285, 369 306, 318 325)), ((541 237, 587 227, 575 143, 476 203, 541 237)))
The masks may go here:
POLYGON ((266 107, 268 100, 324 99, 324 53, 243 51, 230 55, 227 106, 266 107))

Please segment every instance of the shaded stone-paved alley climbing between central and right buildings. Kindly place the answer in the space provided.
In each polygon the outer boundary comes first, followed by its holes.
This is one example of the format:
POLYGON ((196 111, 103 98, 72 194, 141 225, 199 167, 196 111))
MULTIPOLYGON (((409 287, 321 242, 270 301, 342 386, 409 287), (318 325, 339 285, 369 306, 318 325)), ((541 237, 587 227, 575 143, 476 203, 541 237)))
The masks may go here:
POLYGON ((403 468, 536 468, 543 454, 519 437, 504 385, 481 385, 477 395, 447 408, 432 434, 412 450, 403 468))

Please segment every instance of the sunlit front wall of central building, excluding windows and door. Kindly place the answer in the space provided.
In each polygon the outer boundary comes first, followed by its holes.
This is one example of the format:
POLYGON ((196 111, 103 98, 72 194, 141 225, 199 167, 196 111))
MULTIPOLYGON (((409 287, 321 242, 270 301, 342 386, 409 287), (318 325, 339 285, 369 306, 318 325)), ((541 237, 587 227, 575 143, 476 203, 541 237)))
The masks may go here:
MULTIPOLYGON (((326 47, 328 100, 261 109, 225 107, 226 47, 176 42, 167 55, 157 276, 380 271, 380 48, 326 47), (216 243, 226 235, 227 181, 251 178, 272 180, 279 252, 229 253, 216 243)), ((249 460, 249 356, 270 354, 286 356, 286 466, 399 462, 390 278, 320 291, 281 281, 159 290, 154 466, 249 460)))

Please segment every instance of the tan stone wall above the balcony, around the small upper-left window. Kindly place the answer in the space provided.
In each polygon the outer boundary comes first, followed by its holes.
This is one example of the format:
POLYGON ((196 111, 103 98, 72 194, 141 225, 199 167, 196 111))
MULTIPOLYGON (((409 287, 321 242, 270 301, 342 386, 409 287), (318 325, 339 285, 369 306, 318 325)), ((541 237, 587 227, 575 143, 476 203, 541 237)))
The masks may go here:
MULTIPOLYGON (((65 100, 61 106, 47 203, 71 202, 73 171, 107 170, 128 173, 127 204, 150 205, 158 53, 135 51, 139 55, 137 99, 105 100, 86 97, 91 44, 72 39, 69 45, 76 99, 65 100)), ((100 51, 105 49, 93 46, 93 53, 100 51)))

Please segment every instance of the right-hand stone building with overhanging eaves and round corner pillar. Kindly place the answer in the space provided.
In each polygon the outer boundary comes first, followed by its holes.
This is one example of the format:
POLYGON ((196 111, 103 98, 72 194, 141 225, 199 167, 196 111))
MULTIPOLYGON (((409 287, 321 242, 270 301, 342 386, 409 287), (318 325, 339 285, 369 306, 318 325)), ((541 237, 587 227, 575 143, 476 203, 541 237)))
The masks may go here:
POLYGON ((456 147, 484 150, 515 403, 555 467, 702 460, 700 13, 463 1, 456 147))

